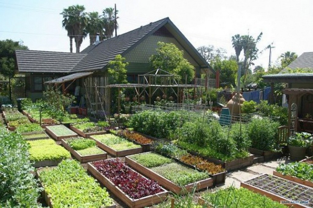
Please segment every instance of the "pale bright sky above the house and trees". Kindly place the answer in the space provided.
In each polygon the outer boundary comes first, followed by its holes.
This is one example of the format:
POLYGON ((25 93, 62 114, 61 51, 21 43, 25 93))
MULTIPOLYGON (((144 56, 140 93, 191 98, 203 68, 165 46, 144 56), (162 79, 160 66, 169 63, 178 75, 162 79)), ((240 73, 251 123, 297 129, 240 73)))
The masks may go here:
MULTIPOLYGON (((0 0, 0 40, 23 41, 31 50, 69 52, 63 8, 80 4, 86 12, 102 13, 114 3, 118 34, 169 17, 194 47, 222 47, 228 56, 235 55, 233 35, 257 37, 260 32, 260 51, 274 42, 273 63, 286 51, 313 51, 313 0, 0 0)), ((81 50, 88 44, 89 37, 81 50)), ((266 50, 255 64, 266 68, 268 59, 266 50)))

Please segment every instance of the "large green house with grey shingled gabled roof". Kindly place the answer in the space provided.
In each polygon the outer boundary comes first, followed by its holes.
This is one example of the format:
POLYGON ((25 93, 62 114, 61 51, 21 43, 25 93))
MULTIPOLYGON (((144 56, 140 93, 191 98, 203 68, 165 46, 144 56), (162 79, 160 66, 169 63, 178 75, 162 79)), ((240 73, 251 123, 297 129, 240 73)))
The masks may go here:
MULTIPOLYGON (((174 43, 184 50, 184 57, 194 66, 196 77, 202 73, 214 73, 212 67, 198 53, 195 47, 167 17, 151 22, 130 32, 97 41, 80 53, 16 50, 18 73, 26 76, 26 97, 33 100, 40 98, 44 82, 59 78, 54 83, 64 83, 63 89, 74 92, 80 86, 80 95, 85 94, 85 83, 82 77, 93 77, 90 81, 103 85, 109 61, 121 54, 129 62, 127 79, 137 82, 137 75, 151 71, 149 57, 155 53, 157 42, 174 43), (70 75, 69 77, 60 78, 70 75), (75 85, 70 83, 75 82, 75 85)), ((91 87, 91 86, 89 86, 91 87)))

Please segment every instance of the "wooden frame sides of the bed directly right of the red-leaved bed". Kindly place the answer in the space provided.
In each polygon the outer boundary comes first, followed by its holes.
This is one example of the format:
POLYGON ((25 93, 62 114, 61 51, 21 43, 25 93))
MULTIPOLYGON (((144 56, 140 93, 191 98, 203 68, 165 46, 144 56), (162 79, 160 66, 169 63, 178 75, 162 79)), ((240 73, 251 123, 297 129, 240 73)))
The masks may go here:
POLYGON ((187 194, 188 192, 191 192, 193 190, 194 186, 196 186, 196 190, 200 190, 203 188, 213 186, 213 179, 208 178, 208 179, 204 179, 202 181, 187 184, 186 186, 181 187, 181 186, 178 186, 177 184, 173 183, 172 181, 164 178, 163 176, 151 171, 150 169, 146 168, 145 166, 142 166, 141 164, 137 163, 136 161, 130 159, 127 156, 125 157, 125 162, 129 166, 133 167, 135 170, 142 173, 143 175, 145 175, 149 178, 152 178, 153 180, 159 182, 161 184, 161 186, 164 186, 168 190, 170 190, 176 194, 179 194, 179 195, 183 195, 183 194, 187 194), (186 193, 186 191, 187 191, 187 193, 186 193))

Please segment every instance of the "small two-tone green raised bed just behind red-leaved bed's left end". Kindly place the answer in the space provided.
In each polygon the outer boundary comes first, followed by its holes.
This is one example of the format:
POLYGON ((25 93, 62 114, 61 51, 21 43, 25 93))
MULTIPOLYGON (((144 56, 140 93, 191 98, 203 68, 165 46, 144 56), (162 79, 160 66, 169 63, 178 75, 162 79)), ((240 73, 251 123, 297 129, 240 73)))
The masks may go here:
POLYGON ((85 163, 97 160, 105 160, 107 158, 106 152, 96 147, 96 142, 92 139, 62 139, 61 142, 62 145, 80 162, 85 163), (73 141, 76 141, 76 144, 78 142, 80 144, 75 145, 73 144, 73 141))

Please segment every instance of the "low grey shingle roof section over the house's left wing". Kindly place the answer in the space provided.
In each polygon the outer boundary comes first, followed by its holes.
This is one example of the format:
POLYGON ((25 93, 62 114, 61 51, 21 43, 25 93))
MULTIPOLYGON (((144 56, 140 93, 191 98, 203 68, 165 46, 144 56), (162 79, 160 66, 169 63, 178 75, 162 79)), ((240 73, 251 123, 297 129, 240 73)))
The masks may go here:
POLYGON ((69 73, 86 54, 16 50, 19 72, 69 73))

